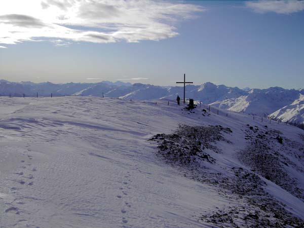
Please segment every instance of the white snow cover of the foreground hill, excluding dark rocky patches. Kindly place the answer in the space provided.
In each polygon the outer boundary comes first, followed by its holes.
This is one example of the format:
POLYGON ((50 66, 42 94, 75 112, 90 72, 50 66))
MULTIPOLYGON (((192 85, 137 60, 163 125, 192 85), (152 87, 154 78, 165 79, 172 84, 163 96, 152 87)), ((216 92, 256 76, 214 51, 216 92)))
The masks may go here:
MULTIPOLYGON (((266 124, 226 110, 203 116, 204 105, 190 113, 167 100, 0 97, 0 107, 2 228, 214 227, 200 219, 202 214, 246 204, 184 176, 182 167, 157 156, 157 145, 148 139, 172 134, 179 124, 229 127, 233 133, 224 137, 232 143, 215 144, 222 154, 207 151, 217 161, 209 168, 225 174, 232 167, 246 168, 238 159, 247 145, 246 124, 266 124)), ((267 125, 303 143, 301 129, 267 125)), ((292 161, 304 168, 301 161, 292 161)), ((289 175, 301 178, 299 186, 304 186, 299 171, 289 175)), ((304 218, 302 200, 275 183, 264 187, 304 218)))

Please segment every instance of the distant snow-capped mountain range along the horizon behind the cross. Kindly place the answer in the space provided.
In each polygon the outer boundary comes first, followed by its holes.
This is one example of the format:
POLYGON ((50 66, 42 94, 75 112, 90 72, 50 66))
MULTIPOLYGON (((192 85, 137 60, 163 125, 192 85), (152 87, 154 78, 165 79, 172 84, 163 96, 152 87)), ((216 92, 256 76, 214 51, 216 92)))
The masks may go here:
MULTIPOLYGON (((103 81, 100 83, 53 84, 32 82, 9 82, 0 80, 0 96, 99 96, 120 97, 133 100, 171 99, 182 97, 180 86, 163 87, 141 83, 103 81)), ((186 97, 210 104, 217 108, 244 112, 282 121, 303 120, 304 90, 270 87, 268 89, 239 89, 207 82, 200 86, 187 85, 186 97), (294 103, 295 102, 295 103, 294 103), (292 109, 292 110, 291 110, 292 109), (286 114, 284 114, 286 113, 286 114)))

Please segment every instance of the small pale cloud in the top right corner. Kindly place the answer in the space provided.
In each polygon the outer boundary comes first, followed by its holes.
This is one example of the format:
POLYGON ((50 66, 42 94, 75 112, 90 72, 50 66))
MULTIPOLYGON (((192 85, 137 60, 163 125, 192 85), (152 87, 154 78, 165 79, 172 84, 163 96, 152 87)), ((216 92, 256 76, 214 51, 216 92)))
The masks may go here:
POLYGON ((275 12, 278 14, 290 14, 304 10, 304 1, 248 1, 246 6, 257 13, 275 12))

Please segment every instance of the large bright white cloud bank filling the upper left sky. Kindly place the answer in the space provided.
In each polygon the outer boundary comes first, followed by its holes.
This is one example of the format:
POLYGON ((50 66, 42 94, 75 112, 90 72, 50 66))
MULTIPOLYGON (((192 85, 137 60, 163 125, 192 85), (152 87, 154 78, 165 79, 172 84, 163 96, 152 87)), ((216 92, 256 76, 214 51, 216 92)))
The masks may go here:
POLYGON ((152 0, 1 0, 0 44, 159 41, 178 34, 177 22, 205 10, 193 4, 152 0))

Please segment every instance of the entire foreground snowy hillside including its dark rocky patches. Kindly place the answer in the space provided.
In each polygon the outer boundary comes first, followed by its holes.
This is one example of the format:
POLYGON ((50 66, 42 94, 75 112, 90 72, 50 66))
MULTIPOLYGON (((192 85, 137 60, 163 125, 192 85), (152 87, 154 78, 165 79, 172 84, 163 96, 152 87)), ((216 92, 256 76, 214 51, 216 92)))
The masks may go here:
POLYGON ((0 98, 0 226, 304 227, 304 132, 167 101, 0 98))

